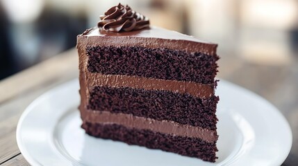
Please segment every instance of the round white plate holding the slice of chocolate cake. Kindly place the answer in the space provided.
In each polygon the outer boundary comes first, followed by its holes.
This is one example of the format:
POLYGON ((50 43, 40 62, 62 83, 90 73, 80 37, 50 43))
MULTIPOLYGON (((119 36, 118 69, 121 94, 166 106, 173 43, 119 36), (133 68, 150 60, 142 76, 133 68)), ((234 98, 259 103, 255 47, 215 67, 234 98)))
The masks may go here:
POLYGON ((31 165, 281 165, 292 146, 292 133, 281 113, 224 80, 216 93, 216 163, 88 136, 80 127, 77 80, 45 93, 24 111, 17 145, 31 165))

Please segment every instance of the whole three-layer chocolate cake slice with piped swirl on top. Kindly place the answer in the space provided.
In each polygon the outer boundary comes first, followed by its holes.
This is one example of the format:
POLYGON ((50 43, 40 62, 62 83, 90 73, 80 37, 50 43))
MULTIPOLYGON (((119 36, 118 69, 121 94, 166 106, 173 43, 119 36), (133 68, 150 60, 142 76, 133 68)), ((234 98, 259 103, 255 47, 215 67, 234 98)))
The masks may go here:
POLYGON ((76 48, 86 133, 215 162, 217 44, 119 4, 76 48))

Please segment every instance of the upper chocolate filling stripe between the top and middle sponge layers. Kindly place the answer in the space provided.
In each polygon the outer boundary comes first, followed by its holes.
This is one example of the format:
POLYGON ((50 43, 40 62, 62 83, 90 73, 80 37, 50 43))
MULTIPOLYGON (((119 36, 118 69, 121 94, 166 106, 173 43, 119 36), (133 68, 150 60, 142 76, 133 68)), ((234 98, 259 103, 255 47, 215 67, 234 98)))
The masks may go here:
POLYGON ((164 90, 176 93, 188 93, 197 98, 210 98, 214 94, 214 84, 199 84, 174 80, 161 80, 128 75, 104 75, 88 73, 89 86, 129 87, 132 89, 164 90))

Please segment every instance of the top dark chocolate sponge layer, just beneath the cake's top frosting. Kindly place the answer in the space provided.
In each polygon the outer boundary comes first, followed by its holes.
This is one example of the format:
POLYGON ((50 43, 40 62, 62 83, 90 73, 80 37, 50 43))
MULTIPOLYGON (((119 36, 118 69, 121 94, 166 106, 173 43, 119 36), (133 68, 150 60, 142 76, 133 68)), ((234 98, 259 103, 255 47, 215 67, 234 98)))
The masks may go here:
POLYGON ((88 71, 213 84, 218 56, 140 46, 88 46, 88 71))

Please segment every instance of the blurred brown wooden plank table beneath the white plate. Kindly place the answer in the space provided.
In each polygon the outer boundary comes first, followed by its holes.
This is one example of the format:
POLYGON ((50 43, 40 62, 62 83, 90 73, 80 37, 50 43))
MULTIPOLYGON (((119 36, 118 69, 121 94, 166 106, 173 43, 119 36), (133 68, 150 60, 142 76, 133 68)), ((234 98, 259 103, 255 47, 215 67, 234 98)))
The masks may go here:
MULTIPOLYGON (((222 55, 219 77, 258 93, 281 110, 290 122, 293 145, 283 165, 298 164, 298 63, 287 66, 249 64, 222 55)), ((49 89, 78 77, 76 50, 68 50, 0 82, 0 165, 28 165, 15 139, 24 109, 49 89)))

